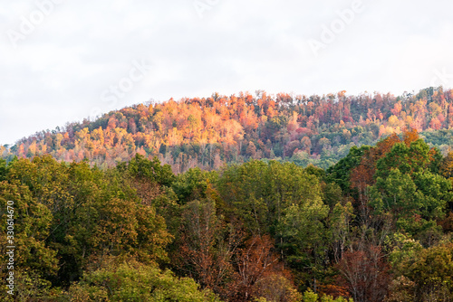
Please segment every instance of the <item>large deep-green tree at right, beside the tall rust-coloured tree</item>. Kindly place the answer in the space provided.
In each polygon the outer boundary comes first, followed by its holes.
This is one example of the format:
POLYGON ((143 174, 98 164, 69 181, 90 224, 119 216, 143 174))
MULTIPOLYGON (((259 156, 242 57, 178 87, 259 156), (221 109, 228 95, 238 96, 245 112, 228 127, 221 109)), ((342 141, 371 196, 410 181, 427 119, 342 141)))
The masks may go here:
POLYGON ((421 139, 410 146, 396 143, 378 160, 376 184, 369 190, 377 213, 390 212, 400 231, 419 238, 439 233, 434 221, 444 217, 453 199, 451 182, 436 173, 436 155, 421 139))

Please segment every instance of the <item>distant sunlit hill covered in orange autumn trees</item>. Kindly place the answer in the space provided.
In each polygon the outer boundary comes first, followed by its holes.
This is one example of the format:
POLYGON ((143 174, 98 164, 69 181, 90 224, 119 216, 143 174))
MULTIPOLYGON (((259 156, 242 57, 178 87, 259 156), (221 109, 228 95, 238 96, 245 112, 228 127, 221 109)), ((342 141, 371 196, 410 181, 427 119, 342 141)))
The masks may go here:
POLYGON ((416 129, 444 155, 453 146, 453 90, 429 88, 400 97, 345 92, 307 97, 258 90, 255 96, 215 93, 206 99, 140 104, 37 132, 9 149, 0 146, 0 155, 10 160, 50 154, 106 167, 140 154, 158 156, 182 173, 260 158, 325 169, 352 146, 374 145, 404 129, 416 129))

